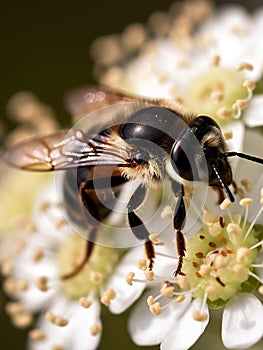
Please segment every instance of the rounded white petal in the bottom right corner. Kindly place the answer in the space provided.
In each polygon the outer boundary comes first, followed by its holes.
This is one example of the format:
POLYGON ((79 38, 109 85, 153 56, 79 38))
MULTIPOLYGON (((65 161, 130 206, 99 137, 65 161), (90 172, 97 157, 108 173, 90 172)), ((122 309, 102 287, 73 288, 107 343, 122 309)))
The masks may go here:
POLYGON ((239 293, 225 306, 222 340, 230 349, 248 349, 262 337, 263 306, 252 294, 239 293))

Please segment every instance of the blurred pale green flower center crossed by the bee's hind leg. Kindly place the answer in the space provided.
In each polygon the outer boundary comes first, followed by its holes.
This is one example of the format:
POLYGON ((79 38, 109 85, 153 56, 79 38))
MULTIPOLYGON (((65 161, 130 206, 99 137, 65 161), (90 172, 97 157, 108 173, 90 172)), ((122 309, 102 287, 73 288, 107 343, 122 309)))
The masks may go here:
MULTIPOLYGON (((77 235, 72 236, 60 247, 57 255, 60 276, 71 273, 81 264, 85 249, 86 240, 77 235)), ((89 293, 97 295, 122 256, 122 250, 95 245, 86 265, 75 276, 63 280, 62 292, 70 299, 79 299, 89 293)))

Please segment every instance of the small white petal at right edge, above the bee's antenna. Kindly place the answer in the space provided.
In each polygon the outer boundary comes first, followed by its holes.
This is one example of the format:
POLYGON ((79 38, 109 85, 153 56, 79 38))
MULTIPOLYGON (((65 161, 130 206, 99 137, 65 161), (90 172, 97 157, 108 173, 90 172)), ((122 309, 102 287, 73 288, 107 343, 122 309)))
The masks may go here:
POLYGON ((244 119, 250 127, 263 125, 263 95, 256 95, 252 98, 246 109, 244 119))

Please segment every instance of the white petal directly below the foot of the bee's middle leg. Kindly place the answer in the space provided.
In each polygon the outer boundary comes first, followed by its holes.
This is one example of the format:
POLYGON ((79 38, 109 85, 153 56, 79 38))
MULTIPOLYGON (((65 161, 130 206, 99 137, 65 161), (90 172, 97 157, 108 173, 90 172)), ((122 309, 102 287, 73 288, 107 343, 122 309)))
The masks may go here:
POLYGON ((114 314, 119 314, 126 310, 139 298, 145 288, 146 283, 134 282, 133 285, 130 286, 126 282, 126 276, 131 271, 136 273, 136 278, 145 279, 143 272, 136 268, 136 261, 140 259, 142 253, 142 247, 138 247, 126 254, 107 283, 106 289, 113 288, 116 292, 116 297, 109 306, 110 311, 114 314))

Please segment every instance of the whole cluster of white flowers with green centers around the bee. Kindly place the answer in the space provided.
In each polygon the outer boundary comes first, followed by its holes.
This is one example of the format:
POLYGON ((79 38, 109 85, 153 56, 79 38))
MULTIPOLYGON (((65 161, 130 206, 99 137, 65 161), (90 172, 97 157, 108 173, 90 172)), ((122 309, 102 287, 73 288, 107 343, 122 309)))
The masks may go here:
MULTIPOLYGON (((95 74, 103 85, 179 101, 197 114, 210 115, 222 126, 230 150, 262 158, 262 23, 263 9, 250 14, 238 5, 175 2, 167 13, 152 14, 146 25, 133 24, 120 35, 97 39, 91 48, 95 74)), ((40 120, 46 122, 46 131, 57 128, 50 110, 39 108, 39 101, 32 104, 32 96, 21 95, 17 101, 19 113, 14 101, 10 113, 18 113, 23 122, 38 120, 30 122, 31 129, 38 131, 40 120), (37 119, 39 111, 49 116, 37 119)), ((187 252, 178 276, 169 195, 160 205, 160 217, 147 222, 156 251, 153 270, 136 241, 138 246, 129 250, 96 245, 89 262, 70 278, 83 261, 86 240, 66 219, 65 198, 57 198, 63 181, 56 177, 56 186, 49 182, 33 206, 30 201, 25 209, 18 201, 13 211, 22 219, 15 226, 3 219, 0 230, 17 231, 19 238, 3 240, 0 253, 4 290, 16 300, 6 305, 6 312, 16 327, 31 327, 29 348, 96 349, 103 328, 101 304, 120 314, 138 299, 128 329, 139 346, 198 349, 206 337, 216 337, 218 343, 218 334, 209 329, 219 319, 225 348, 244 349, 260 342, 262 166, 243 159, 233 160, 231 166, 235 203, 225 199, 219 205, 211 190, 202 206, 198 199, 207 186, 195 188, 197 202, 187 214, 193 225, 186 225, 187 252)), ((8 178, 2 173, 0 181, 5 186, 8 178)), ((5 204, 7 193, 2 195, 5 204)), ((187 191, 186 199, 192 200, 187 191)), ((139 208, 140 216, 149 214, 152 203, 150 199, 139 208)), ((11 212, 7 204, 4 217, 10 216, 6 210, 11 212)), ((116 225, 111 228, 113 237, 116 225)))

